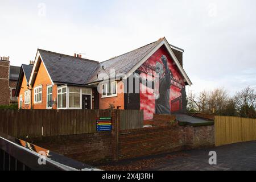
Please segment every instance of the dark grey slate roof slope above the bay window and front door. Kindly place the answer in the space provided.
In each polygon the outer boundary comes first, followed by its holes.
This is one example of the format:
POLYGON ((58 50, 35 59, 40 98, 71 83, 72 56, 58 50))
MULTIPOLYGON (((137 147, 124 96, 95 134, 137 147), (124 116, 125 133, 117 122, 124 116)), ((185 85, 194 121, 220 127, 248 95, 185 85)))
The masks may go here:
POLYGON ((53 82, 84 85, 98 61, 38 49, 53 82))

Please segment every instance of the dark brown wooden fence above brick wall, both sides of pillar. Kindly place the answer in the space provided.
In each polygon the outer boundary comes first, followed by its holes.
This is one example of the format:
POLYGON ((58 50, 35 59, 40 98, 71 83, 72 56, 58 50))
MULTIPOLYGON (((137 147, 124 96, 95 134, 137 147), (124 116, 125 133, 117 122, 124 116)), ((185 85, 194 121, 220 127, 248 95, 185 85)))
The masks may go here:
MULTIPOLYGON (((115 111, 122 130, 143 127, 143 111, 115 111)), ((19 138, 96 133, 97 117, 112 114, 110 110, 0 109, 0 133, 19 138)))

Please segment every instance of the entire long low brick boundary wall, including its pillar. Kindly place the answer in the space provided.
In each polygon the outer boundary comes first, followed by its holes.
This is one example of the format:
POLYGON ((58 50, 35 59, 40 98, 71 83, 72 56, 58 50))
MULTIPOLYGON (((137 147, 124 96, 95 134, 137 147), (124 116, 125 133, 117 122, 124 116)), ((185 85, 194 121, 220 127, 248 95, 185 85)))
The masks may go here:
POLYGON ((47 137, 29 142, 89 164, 214 146, 213 125, 193 127, 174 123, 126 131, 116 131, 117 128, 118 123, 113 121, 111 133, 47 137))

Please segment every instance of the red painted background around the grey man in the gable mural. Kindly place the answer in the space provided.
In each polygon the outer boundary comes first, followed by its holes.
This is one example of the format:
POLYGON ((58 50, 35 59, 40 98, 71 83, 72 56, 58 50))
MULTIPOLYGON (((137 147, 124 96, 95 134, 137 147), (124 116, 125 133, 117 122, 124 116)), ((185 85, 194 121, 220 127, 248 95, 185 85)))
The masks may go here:
MULTIPOLYGON (((156 51, 145 63, 150 64, 152 66, 155 66, 156 61, 159 61, 159 63, 162 63, 161 61, 161 56, 166 55, 168 59, 168 67, 171 70, 174 78, 176 80, 179 80, 182 82, 182 85, 184 86, 184 81, 183 77, 181 76, 179 69, 177 68, 176 65, 174 65, 174 60, 171 58, 170 54, 168 53, 166 47, 162 46, 156 51)), ((141 110, 144 110, 144 119, 152 119, 153 114, 155 113, 155 100, 149 100, 148 98, 152 98, 152 89, 147 88, 147 92, 142 92, 143 89, 146 89, 146 86, 143 86, 142 84, 140 85, 140 98, 141 98, 141 110)), ((175 103, 171 105, 171 101, 174 100, 177 97, 181 96, 181 89, 177 88, 176 86, 171 86, 170 88, 170 106, 171 106, 171 112, 172 111, 177 111, 181 109, 179 107, 179 103, 175 103)))

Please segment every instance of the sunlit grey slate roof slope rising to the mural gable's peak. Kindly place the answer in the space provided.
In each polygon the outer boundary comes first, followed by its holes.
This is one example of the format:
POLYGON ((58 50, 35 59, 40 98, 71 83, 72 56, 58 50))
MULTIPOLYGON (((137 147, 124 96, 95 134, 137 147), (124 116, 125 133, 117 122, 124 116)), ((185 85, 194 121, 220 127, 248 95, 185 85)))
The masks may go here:
POLYGON ((87 82, 89 83, 98 81, 97 75, 99 75, 100 73, 106 73, 110 76, 110 69, 115 69, 115 75, 117 75, 118 73, 126 74, 162 40, 163 39, 159 39, 158 41, 147 44, 146 46, 114 57, 110 60, 101 62, 87 82), (104 67, 104 69, 102 69, 102 66, 104 67))

